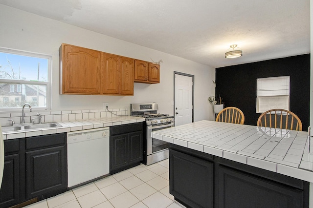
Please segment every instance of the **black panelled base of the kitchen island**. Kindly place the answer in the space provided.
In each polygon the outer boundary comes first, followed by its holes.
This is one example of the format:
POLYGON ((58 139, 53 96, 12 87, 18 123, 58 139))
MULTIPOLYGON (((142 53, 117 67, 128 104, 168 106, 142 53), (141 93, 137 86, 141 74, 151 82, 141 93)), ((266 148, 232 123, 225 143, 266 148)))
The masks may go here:
POLYGON ((309 182, 170 144, 170 193, 188 208, 309 208, 309 182))

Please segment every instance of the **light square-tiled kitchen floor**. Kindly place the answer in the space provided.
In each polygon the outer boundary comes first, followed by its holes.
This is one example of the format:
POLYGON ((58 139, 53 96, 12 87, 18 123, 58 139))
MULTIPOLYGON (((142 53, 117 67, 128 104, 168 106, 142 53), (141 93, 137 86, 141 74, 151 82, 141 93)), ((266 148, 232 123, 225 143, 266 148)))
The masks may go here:
POLYGON ((25 208, 185 208, 169 193, 168 165, 141 164, 25 208))

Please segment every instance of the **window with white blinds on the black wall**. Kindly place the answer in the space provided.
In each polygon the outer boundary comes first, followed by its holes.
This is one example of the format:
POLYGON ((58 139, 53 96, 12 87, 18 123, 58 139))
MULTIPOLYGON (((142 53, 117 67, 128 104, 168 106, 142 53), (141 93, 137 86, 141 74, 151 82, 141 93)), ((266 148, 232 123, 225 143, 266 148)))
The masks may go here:
POLYGON ((256 81, 256 112, 289 110, 290 76, 259 78, 256 81))

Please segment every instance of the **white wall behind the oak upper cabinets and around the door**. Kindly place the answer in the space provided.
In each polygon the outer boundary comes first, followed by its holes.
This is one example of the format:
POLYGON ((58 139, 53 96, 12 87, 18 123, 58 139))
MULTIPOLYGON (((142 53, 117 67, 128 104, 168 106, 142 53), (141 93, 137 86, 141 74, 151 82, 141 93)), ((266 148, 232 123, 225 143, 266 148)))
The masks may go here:
MULTIPOLYGON (((0 4, 0 46, 52 55, 52 110, 127 107, 156 102, 160 113, 173 115, 174 71, 195 76, 195 121, 213 120, 208 97, 214 95, 215 69, 130 42, 33 15, 0 4), (59 47, 68 43, 151 62, 162 59, 159 84, 134 83, 134 96, 59 95, 59 47)), ((170 47, 170 46, 169 46, 170 47)))

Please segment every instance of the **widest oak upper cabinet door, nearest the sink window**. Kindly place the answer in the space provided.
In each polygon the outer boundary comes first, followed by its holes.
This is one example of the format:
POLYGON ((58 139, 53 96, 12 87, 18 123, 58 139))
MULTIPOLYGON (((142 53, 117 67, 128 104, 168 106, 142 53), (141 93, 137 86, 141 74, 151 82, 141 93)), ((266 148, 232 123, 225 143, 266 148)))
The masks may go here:
POLYGON ((101 52, 68 44, 61 47, 61 93, 101 94, 101 52))

